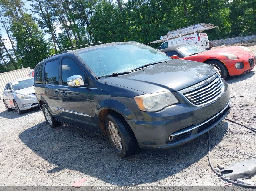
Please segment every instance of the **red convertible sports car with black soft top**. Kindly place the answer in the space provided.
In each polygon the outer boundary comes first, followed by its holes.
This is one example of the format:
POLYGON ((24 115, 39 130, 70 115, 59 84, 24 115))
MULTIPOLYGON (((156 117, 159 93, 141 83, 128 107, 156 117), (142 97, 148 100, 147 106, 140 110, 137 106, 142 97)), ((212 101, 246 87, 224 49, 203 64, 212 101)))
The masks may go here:
POLYGON ((222 78, 251 71, 256 56, 244 46, 230 46, 205 50, 199 46, 187 44, 171 46, 159 50, 174 59, 193 60, 211 64, 218 69, 222 78))

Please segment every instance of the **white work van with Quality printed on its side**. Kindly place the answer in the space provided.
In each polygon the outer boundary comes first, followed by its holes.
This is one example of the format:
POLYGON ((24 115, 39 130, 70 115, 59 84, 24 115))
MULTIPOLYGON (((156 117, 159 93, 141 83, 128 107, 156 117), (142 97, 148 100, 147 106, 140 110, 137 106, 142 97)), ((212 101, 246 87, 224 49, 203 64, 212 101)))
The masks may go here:
POLYGON ((165 41, 161 44, 158 50, 165 49, 171 46, 176 46, 180 44, 194 44, 200 46, 206 50, 210 49, 209 39, 206 33, 194 33, 186 36, 174 38, 165 41))

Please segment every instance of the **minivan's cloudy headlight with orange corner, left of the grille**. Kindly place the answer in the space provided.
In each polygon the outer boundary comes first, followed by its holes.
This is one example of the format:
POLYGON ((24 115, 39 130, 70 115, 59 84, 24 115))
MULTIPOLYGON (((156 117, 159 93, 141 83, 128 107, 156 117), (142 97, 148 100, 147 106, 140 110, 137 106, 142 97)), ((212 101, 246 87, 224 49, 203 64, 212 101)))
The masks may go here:
POLYGON ((141 111, 159 111, 178 103, 177 98, 170 91, 135 96, 134 99, 141 111))

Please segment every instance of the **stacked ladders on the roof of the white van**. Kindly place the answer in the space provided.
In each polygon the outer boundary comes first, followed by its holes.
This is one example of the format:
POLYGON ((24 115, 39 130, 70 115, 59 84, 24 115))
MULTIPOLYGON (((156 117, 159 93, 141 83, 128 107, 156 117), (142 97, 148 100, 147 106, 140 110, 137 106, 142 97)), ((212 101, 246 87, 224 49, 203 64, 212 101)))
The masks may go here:
POLYGON ((189 35, 189 34, 194 34, 197 32, 201 32, 204 30, 209 30, 213 28, 218 28, 219 26, 214 26, 211 23, 198 23, 198 24, 192 24, 188 27, 183 27, 179 28, 176 30, 169 31, 166 35, 160 36, 160 40, 155 40, 153 42, 150 42, 148 44, 153 44, 153 43, 161 43, 165 42, 167 40, 173 39, 173 38, 178 38, 184 35, 189 35))

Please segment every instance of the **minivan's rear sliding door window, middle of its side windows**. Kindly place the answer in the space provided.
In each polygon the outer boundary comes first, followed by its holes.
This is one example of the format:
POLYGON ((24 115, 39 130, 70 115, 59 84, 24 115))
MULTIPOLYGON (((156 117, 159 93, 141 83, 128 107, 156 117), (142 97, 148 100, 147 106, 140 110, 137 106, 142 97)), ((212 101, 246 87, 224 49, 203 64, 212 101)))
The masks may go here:
POLYGON ((45 63, 45 84, 59 84, 58 69, 59 60, 45 63))

